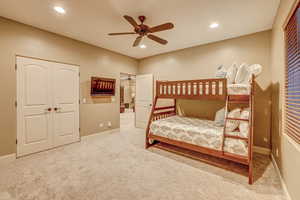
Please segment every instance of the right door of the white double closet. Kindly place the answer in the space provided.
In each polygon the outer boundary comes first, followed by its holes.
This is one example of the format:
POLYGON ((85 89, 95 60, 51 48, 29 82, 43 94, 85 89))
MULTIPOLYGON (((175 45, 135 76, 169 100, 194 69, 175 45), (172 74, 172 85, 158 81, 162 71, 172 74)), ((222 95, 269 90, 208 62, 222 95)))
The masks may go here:
POLYGON ((53 63, 54 146, 79 141, 79 68, 53 63))

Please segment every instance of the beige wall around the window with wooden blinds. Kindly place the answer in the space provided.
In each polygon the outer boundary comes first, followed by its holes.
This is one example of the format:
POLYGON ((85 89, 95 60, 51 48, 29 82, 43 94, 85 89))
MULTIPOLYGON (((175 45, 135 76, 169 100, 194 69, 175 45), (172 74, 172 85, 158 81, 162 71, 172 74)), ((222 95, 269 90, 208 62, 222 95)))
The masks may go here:
POLYGON ((282 26, 297 0, 281 0, 272 30, 272 154, 293 200, 300 199, 300 145, 294 144, 283 131, 285 41, 282 26), (277 152, 278 151, 278 156, 277 152))

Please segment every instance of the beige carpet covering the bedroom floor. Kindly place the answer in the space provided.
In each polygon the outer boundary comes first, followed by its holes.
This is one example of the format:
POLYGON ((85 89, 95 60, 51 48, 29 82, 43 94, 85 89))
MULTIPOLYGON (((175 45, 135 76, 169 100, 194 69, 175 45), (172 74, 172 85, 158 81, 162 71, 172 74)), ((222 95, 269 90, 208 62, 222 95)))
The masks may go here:
POLYGON ((282 200, 268 157, 247 178, 158 149, 122 115, 120 132, 101 134, 0 166, 0 200, 282 200))

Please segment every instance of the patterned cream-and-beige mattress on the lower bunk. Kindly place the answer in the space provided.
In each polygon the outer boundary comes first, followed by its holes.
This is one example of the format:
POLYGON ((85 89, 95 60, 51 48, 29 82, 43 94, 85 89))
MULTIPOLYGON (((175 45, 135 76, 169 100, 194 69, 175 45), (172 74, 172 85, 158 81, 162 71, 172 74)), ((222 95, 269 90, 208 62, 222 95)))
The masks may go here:
MULTIPOLYGON (((191 117, 172 116, 151 123, 150 133, 176 141, 222 150, 224 127, 214 121, 191 117)), ((248 155, 247 143, 243 140, 226 138, 224 151, 242 156, 248 155)))

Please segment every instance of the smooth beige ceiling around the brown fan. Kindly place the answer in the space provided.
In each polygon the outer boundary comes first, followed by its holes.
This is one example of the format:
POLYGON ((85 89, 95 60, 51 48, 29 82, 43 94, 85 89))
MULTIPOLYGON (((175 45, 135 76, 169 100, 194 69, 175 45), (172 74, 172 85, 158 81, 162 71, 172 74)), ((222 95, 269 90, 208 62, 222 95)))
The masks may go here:
POLYGON ((144 58, 220 41, 272 27, 280 0, 1 0, 0 16, 65 35, 134 58, 144 58), (66 9, 65 15, 53 6, 66 9), (166 46, 147 38, 146 49, 132 47, 136 36, 108 36, 132 31, 123 15, 145 15, 145 24, 173 22, 175 28, 156 33, 166 46), (212 22, 220 23, 210 29, 212 22))

